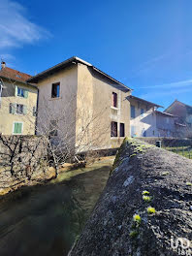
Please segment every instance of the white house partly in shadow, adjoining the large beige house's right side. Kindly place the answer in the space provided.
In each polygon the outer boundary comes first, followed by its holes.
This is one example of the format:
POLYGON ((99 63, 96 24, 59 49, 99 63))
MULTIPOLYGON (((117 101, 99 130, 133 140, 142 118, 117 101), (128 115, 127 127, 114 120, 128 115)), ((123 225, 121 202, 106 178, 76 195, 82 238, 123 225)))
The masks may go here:
POLYGON ((131 137, 158 136, 155 111, 161 106, 133 95, 129 96, 129 102, 131 137))

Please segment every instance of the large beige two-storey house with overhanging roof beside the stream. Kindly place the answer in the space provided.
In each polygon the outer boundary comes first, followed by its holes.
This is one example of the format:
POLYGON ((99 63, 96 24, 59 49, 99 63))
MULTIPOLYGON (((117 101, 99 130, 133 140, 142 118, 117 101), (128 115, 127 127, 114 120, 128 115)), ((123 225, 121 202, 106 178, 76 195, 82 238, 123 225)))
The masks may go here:
POLYGON ((90 63, 72 57, 28 81, 39 88, 38 134, 79 151, 117 147, 130 136, 131 89, 90 63))

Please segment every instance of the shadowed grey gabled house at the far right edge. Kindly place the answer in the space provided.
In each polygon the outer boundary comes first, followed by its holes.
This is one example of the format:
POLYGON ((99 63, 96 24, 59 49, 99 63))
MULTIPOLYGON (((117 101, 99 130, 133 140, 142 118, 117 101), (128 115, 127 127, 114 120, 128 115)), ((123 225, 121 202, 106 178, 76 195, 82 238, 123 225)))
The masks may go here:
POLYGON ((174 114, 176 118, 176 134, 179 137, 192 138, 192 106, 175 101, 165 112, 174 114))

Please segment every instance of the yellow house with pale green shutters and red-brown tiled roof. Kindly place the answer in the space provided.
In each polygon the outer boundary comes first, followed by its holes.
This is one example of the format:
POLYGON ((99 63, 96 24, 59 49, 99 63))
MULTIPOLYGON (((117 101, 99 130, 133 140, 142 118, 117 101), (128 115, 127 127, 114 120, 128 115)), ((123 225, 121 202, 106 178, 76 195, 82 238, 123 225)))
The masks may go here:
POLYGON ((0 133, 35 134, 38 89, 26 82, 29 75, 6 67, 0 70, 0 133))

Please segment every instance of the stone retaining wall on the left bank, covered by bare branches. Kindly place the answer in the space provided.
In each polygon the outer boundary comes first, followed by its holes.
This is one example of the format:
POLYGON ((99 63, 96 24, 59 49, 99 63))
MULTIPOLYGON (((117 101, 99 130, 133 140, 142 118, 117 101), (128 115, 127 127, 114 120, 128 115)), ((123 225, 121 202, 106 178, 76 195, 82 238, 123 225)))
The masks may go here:
POLYGON ((0 135, 0 193, 47 179, 48 170, 48 143, 43 137, 0 135))

